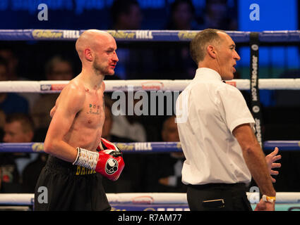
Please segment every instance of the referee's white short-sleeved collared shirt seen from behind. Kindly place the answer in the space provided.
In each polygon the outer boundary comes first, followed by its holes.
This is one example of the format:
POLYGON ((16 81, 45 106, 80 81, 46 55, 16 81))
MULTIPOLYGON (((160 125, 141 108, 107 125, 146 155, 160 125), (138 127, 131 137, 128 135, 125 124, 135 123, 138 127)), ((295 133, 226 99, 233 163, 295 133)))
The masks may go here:
POLYGON ((254 120, 236 87, 223 83, 215 70, 199 68, 177 98, 176 117, 186 157, 182 169, 184 184, 248 184, 251 181, 232 131, 245 123, 253 127, 254 120))

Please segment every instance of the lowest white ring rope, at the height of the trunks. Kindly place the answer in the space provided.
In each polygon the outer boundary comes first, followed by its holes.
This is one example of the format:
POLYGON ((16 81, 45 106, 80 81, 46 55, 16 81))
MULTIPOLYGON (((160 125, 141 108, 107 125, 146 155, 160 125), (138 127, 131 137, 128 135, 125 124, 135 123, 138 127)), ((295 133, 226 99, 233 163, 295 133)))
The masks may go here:
MULTIPOLYGON (((247 192, 250 203, 258 203, 258 192, 247 192)), ((34 194, 0 194, 0 205, 32 205, 34 194)), ((110 204, 187 204, 186 193, 107 193, 110 204)), ((276 203, 300 203, 299 192, 278 192, 276 203)))

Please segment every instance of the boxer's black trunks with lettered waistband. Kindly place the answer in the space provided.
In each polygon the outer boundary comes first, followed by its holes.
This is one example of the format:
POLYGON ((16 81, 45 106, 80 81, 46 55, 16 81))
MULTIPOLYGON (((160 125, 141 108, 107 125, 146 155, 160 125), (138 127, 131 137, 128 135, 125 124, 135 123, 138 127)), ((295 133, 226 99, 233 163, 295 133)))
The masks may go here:
POLYGON ((35 186, 34 210, 111 210, 102 175, 49 155, 35 186))

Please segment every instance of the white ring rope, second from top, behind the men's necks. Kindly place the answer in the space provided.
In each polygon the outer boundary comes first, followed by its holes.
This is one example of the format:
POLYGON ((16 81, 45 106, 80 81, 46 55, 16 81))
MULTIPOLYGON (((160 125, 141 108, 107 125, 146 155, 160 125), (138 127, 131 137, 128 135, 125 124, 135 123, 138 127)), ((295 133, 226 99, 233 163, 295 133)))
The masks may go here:
MULTIPOLYGON (((6 81, 0 82, 0 92, 60 92, 69 81, 6 81)), ((104 80, 105 91, 183 91, 191 82, 190 79, 130 79, 130 80, 104 80)), ((227 81, 240 90, 250 89, 249 79, 232 79, 227 81)), ((269 90, 299 90, 300 79, 259 79, 260 89, 269 90)))

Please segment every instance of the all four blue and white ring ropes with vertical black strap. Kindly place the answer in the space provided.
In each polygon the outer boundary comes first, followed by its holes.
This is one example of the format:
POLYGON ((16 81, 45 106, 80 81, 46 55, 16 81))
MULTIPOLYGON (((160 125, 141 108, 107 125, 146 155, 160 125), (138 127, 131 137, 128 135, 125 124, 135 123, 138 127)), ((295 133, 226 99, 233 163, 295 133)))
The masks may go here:
MULTIPOLYGON (((30 41, 30 40, 65 40, 75 41, 83 30, 0 30, 0 41, 30 41)), ((118 41, 191 41, 198 31, 116 31, 108 30, 118 41)), ((251 46, 251 56, 258 58, 260 43, 272 42, 300 42, 300 31, 265 31, 265 32, 227 32, 236 43, 251 46), (253 47, 254 46, 254 47, 253 47)), ((240 90, 251 90, 251 96, 259 96, 259 89, 268 90, 299 90, 300 79, 259 79, 258 70, 250 62, 250 79, 233 79, 227 84, 236 86, 240 90)), ((128 91, 182 91, 191 82, 190 80, 107 80, 107 92, 128 91)), ((31 92, 57 93, 68 81, 6 81, 0 82, 0 92, 31 92)), ((251 98, 253 99, 253 98, 251 98)), ((256 121, 260 122, 260 102, 251 101, 251 112, 256 121)), ((260 123, 258 123, 260 124, 260 123)), ((256 125, 258 125, 256 123, 256 125)), ((256 134, 257 135, 257 134, 256 134)), ((300 150, 300 141, 262 141, 263 150, 273 150, 275 147, 283 150, 300 150)), ((116 146, 125 154, 130 153, 167 153, 180 152, 179 142, 145 142, 145 143, 116 143, 116 146)), ((0 143, 0 153, 42 153, 43 143, 0 143)), ((259 201, 259 193, 248 192, 247 197, 252 207, 259 201)), ((185 193, 107 193, 112 210, 127 211, 188 211, 185 193)), ((32 206, 33 194, 0 194, 2 206, 32 206)), ((300 192, 277 193, 275 210, 300 210, 300 192)))

